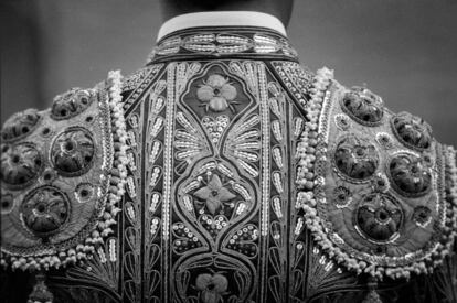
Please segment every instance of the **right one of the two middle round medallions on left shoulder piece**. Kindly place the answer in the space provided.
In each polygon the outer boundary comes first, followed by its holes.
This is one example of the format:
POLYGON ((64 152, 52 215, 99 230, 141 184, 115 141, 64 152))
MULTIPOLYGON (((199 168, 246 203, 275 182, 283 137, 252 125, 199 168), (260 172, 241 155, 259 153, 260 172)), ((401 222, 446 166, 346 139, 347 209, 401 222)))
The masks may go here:
POLYGON ((95 145, 92 134, 83 128, 71 128, 61 133, 51 148, 51 160, 64 176, 84 174, 92 165, 95 145))

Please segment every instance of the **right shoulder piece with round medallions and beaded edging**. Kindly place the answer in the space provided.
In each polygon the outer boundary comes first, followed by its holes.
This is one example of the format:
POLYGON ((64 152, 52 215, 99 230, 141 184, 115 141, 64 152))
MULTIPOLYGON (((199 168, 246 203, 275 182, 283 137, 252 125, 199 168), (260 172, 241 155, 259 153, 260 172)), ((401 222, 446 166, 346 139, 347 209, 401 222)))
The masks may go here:
POLYGON ((348 270, 431 273, 456 235, 455 150, 364 87, 318 71, 298 144, 297 207, 316 242, 348 270))

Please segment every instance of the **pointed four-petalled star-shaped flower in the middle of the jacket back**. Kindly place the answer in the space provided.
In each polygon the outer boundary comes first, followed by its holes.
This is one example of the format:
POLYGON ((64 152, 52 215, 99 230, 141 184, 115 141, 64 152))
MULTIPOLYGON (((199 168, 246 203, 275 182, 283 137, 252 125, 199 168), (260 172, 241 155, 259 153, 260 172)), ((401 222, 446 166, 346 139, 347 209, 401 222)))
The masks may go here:
MULTIPOLYGON (((200 188, 193 194, 199 199, 204 201, 208 210, 214 215, 221 209, 222 204, 234 199, 236 196, 232 194, 221 182, 221 178, 213 174, 206 186, 200 188)), ((199 204, 199 202, 195 202, 199 204)))

